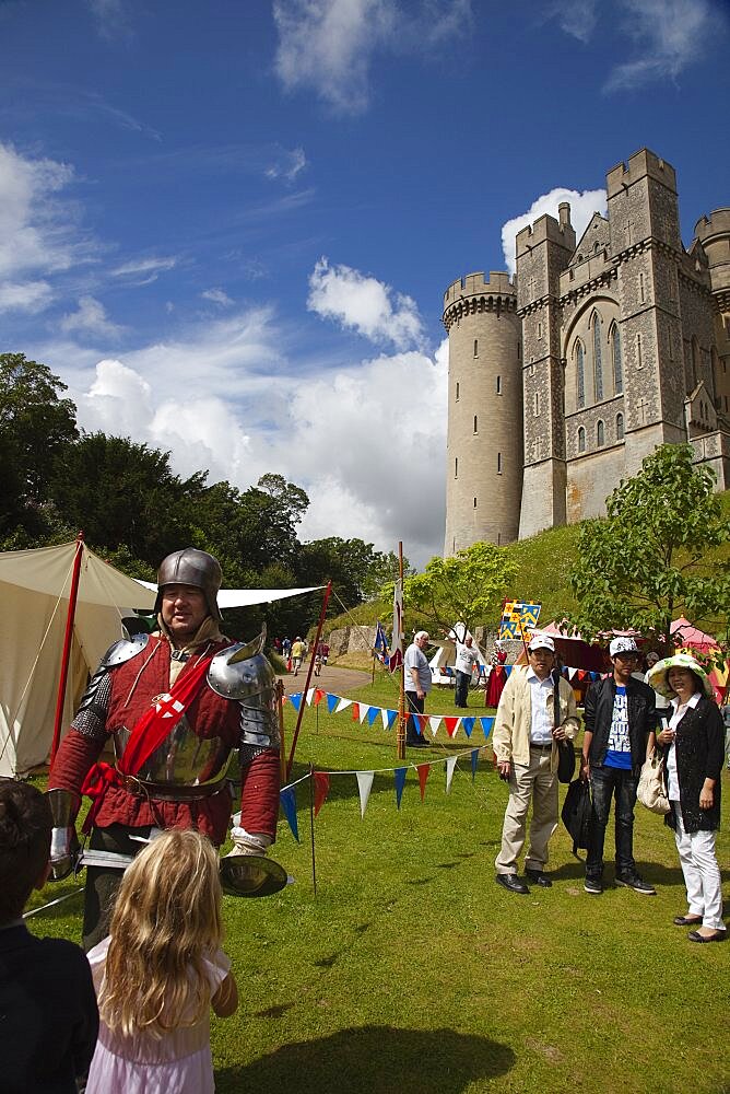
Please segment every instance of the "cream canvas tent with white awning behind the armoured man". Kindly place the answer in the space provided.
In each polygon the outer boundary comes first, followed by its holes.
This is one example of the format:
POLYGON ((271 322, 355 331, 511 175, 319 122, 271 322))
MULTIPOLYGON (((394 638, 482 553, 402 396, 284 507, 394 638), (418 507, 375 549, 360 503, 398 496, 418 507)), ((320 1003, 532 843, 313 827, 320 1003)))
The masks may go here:
MULTIPOLYGON (((0 552, 0 775, 48 759, 75 543, 0 552)), ((316 586, 315 586, 316 587, 316 586)), ((311 589, 222 590, 222 607, 263 604, 311 589)), ((133 581, 83 547, 63 731, 121 619, 153 607, 156 586, 133 581)))

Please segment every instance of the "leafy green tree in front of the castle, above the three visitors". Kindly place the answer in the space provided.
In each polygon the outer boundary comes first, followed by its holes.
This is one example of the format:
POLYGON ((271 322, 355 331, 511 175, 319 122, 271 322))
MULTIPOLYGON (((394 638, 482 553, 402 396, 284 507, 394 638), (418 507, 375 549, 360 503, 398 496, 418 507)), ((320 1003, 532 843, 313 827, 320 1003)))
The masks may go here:
POLYGON ((715 474, 692 463, 688 444, 664 444, 622 480, 605 520, 587 521, 570 583, 579 603, 568 622, 585 638, 635 628, 669 645, 678 613, 695 624, 727 617, 728 563, 708 558, 730 540, 713 492, 715 474))

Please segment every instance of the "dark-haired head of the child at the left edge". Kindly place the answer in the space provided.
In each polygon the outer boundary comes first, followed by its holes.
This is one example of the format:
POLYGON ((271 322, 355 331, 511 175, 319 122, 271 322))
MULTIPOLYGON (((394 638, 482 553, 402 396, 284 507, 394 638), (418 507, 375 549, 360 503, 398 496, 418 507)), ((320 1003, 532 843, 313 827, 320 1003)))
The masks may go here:
POLYGON ((0 779, 0 926, 23 911, 48 876, 50 805, 27 782, 0 779))

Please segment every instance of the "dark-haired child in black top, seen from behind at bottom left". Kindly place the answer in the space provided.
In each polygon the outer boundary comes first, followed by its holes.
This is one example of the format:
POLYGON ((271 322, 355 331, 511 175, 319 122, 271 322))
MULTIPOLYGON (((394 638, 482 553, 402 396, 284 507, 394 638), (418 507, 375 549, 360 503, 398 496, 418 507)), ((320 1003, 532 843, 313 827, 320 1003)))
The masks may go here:
POLYGON ((47 799, 28 783, 0 779, 0 1090, 75 1094, 89 1070, 98 1011, 83 951, 38 939, 22 912, 48 877, 47 799))

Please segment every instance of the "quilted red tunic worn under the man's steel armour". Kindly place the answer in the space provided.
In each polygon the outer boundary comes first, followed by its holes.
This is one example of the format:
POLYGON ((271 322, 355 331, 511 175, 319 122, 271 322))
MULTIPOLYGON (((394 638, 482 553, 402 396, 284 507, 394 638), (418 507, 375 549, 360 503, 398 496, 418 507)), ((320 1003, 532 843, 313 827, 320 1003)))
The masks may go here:
MULTIPOLYGON (((212 642, 205 652, 217 653, 232 643, 212 642)), ((202 652, 202 651, 201 651, 202 652)), ((137 656, 110 668, 111 694, 106 719, 106 734, 126 726, 131 730, 151 706, 152 700, 169 690, 169 643, 152 638, 137 656)), ((196 655, 182 667, 180 676, 196 662, 196 655)), ((221 737, 232 750, 237 748, 240 734, 240 707, 232 699, 216 695, 207 684, 186 711, 186 718, 197 736, 221 737)), ((48 789, 61 788, 80 794, 89 769, 98 758, 105 742, 85 736, 71 729, 56 755, 48 779, 48 789)), ((279 815, 279 753, 267 749, 243 768, 242 827, 247 831, 266 833, 275 838, 279 815)), ((191 802, 150 800, 130 793, 123 787, 110 785, 96 816, 96 826, 113 824, 138 828, 156 825, 160 828, 197 828, 214 843, 222 843, 231 818, 228 784, 209 798, 191 802)))

